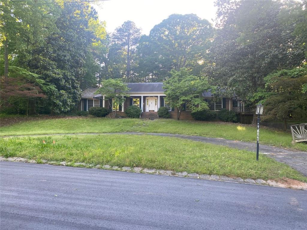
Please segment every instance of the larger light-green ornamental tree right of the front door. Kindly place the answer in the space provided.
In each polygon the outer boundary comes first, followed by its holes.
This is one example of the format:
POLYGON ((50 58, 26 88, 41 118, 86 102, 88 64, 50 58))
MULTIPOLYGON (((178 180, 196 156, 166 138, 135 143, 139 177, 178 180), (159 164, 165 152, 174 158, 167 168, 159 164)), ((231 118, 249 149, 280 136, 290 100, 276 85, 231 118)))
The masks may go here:
POLYGON ((177 108, 177 120, 180 119, 184 103, 195 105, 192 106, 192 111, 208 109, 208 103, 201 96, 210 89, 207 78, 189 75, 186 68, 172 70, 171 75, 171 78, 163 82, 166 95, 164 100, 177 108))

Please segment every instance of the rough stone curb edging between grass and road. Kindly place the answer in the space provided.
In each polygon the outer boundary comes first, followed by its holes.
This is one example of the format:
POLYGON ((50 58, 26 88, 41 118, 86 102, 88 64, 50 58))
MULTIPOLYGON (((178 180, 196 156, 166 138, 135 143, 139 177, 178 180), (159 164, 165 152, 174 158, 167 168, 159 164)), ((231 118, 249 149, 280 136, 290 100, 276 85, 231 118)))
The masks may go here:
POLYGON ((162 169, 150 169, 150 168, 142 168, 142 167, 118 167, 118 166, 110 166, 110 165, 95 165, 95 164, 86 164, 86 163, 71 163, 71 162, 57 162, 57 161, 48 161, 48 160, 40 160, 37 162, 36 160, 29 160, 21 157, 2 157, 0 156, 0 161, 12 161, 12 162, 25 162, 25 163, 44 163, 50 165, 59 165, 59 166, 72 166, 72 167, 86 167, 86 168, 95 168, 95 169, 108 169, 108 170, 116 170, 116 171, 128 171, 134 173, 146 173, 146 174, 156 174, 156 175, 165 175, 165 176, 177 176, 177 177, 188 177, 188 178, 198 178, 204 180, 214 180, 214 181, 224 181, 224 182, 234 182, 234 183, 244 183, 244 184, 255 184, 255 185, 267 185, 274 187, 282 187, 282 188, 292 188, 292 189, 303 189, 307 190, 307 183, 295 181, 295 184, 286 184, 285 182, 274 181, 274 180, 262 180, 262 179, 242 179, 240 177, 227 177, 227 176, 219 176, 219 175, 208 175, 208 174, 197 174, 197 173, 187 173, 187 172, 175 172, 170 170, 162 170, 162 169))

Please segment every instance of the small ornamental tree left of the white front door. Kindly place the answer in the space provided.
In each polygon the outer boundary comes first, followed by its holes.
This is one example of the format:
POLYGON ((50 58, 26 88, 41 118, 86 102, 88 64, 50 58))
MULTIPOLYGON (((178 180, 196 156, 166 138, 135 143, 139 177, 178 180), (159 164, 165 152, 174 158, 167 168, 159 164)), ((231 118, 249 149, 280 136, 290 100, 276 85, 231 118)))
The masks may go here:
POLYGON ((104 100, 109 103, 110 108, 112 109, 113 117, 115 118, 119 105, 122 105, 122 103, 124 103, 126 100, 126 98, 123 96, 129 97, 129 94, 126 92, 128 92, 130 89, 125 83, 122 82, 122 79, 103 80, 101 85, 102 86, 96 91, 96 93, 105 96, 104 100))

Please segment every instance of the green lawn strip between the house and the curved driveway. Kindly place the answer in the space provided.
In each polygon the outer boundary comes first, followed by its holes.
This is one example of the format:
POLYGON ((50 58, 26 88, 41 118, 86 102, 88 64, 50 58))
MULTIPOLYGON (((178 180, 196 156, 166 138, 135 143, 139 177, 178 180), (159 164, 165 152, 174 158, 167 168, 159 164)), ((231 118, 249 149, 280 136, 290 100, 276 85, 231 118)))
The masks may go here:
MULTIPOLYGON (((27 121, 21 124, 1 127, 0 136, 91 133, 91 132, 162 132, 208 137, 221 137, 230 140, 256 141, 256 127, 219 122, 176 121, 173 119, 109 119, 109 118, 61 118, 27 121)), ((292 144, 290 132, 275 129, 260 129, 260 143, 282 148, 307 151, 307 144, 292 144)))

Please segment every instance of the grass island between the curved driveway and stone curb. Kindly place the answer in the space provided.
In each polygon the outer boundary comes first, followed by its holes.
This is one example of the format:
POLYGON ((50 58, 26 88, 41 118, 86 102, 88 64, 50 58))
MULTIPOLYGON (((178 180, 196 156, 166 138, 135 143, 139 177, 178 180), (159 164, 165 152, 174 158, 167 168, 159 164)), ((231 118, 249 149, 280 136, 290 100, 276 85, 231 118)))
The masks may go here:
POLYGON ((3 138, 0 155, 265 180, 288 177, 307 182, 291 167, 265 155, 260 154, 257 162, 249 151, 174 137, 102 134, 3 138))

